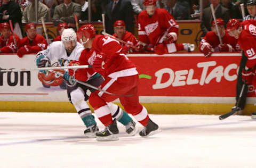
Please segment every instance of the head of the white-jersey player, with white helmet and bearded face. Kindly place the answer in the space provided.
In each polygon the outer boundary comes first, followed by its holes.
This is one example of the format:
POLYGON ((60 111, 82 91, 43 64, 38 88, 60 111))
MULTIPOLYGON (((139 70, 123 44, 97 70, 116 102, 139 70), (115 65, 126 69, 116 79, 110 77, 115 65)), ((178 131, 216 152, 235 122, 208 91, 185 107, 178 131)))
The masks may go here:
POLYGON ((63 30, 61 34, 61 41, 67 51, 72 52, 77 43, 76 32, 73 29, 63 30))

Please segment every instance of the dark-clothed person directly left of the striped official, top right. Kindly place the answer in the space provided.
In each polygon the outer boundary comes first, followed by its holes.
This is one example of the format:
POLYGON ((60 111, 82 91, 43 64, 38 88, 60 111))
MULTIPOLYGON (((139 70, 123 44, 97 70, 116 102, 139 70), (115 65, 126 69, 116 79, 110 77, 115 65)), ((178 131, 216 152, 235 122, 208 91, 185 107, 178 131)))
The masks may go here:
POLYGON ((221 0, 221 4, 229 10, 230 18, 242 19, 242 13, 238 5, 232 3, 231 0, 221 0))

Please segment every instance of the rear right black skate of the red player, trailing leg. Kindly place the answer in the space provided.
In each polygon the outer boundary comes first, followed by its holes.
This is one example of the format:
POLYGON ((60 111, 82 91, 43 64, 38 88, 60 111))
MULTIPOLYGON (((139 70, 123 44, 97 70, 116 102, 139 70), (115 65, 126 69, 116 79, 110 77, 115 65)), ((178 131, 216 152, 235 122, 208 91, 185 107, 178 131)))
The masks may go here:
POLYGON ((140 136, 148 137, 161 131, 156 123, 148 119, 148 124, 140 131, 140 136))

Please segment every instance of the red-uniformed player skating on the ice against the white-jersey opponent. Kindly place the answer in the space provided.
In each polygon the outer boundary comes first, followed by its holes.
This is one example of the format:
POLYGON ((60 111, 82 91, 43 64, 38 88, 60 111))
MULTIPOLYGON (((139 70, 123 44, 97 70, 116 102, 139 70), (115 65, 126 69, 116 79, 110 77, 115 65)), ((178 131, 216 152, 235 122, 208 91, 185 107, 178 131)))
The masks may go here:
POLYGON ((101 89, 118 95, 130 95, 113 96, 102 91, 91 94, 89 102, 94 108, 94 113, 106 126, 105 130, 96 133, 97 140, 118 140, 116 120, 112 120, 110 108, 107 106, 108 102, 113 102, 117 98, 125 111, 131 113, 145 126, 140 131, 140 136, 146 137, 159 132, 158 125, 149 119, 146 108, 139 103, 138 72, 135 65, 121 52, 122 46, 119 41, 110 36, 96 36, 92 24, 82 26, 78 36, 85 48, 92 49, 93 54, 88 60, 89 64, 93 65, 94 71, 105 77, 101 89))

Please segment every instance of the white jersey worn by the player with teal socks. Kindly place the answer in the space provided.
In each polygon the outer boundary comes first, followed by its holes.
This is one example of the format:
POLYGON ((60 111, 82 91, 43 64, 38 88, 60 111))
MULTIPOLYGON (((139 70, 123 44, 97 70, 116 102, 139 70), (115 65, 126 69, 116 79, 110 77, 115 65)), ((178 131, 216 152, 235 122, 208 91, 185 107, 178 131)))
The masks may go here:
POLYGON ((79 57, 81 56, 82 51, 84 50, 84 47, 80 43, 76 43, 76 47, 73 49, 71 54, 68 56, 67 51, 65 49, 64 44, 62 41, 54 41, 51 43, 47 49, 38 52, 36 55, 36 59, 39 56, 44 56, 45 58, 47 57, 50 61, 51 64, 54 62, 57 62, 60 58, 66 59, 66 60, 79 60, 79 57))

